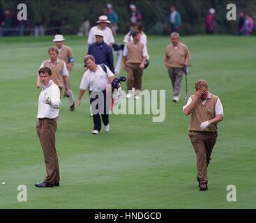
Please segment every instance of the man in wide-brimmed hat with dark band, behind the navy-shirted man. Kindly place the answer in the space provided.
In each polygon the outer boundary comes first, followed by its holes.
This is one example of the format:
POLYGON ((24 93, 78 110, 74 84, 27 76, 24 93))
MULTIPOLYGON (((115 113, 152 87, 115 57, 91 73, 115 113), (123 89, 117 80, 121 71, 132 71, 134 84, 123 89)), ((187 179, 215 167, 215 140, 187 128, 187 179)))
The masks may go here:
POLYGON ((104 42, 112 47, 114 43, 114 36, 112 30, 107 25, 110 24, 110 20, 107 20, 107 15, 100 15, 98 17, 97 25, 90 29, 87 43, 90 45, 96 42, 95 33, 96 31, 102 31, 104 35, 104 42))

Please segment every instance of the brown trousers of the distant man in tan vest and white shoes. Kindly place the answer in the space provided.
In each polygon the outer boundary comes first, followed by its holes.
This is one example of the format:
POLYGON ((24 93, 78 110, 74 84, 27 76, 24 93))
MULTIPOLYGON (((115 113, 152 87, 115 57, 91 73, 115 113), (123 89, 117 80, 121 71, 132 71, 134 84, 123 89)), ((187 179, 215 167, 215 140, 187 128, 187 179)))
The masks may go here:
POLYGON ((126 66, 127 75, 127 91, 131 90, 133 87, 135 90, 142 89, 142 74, 143 69, 140 68, 140 63, 128 63, 126 66))

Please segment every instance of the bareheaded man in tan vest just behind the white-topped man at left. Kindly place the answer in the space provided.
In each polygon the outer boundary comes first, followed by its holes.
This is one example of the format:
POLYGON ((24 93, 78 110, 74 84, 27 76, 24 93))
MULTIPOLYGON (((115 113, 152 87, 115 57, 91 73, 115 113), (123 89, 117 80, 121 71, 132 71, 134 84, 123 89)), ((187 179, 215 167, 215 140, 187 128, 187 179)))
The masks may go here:
MULTIPOLYGON (((65 87, 64 95, 68 95, 68 70, 66 63, 61 59, 58 59, 59 49, 57 47, 50 47, 48 49, 48 54, 50 56, 50 59, 43 61, 40 68, 50 68, 50 70, 52 71, 52 80, 54 84, 57 84, 60 91, 62 91, 62 89, 65 87)), ((40 77, 38 76, 36 87, 40 89, 40 86, 40 77)))

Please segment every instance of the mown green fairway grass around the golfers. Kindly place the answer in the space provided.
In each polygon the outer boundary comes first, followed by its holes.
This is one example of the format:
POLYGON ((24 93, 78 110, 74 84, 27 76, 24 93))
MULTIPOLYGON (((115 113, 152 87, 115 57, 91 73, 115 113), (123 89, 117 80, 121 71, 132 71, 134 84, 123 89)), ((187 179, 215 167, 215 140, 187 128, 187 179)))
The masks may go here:
MULTIPOLYGON (((72 113, 63 99, 57 130, 61 187, 41 189, 33 186, 45 177, 36 135, 40 91, 35 84, 52 36, 0 38, 0 208, 256 208, 255 37, 181 38, 192 55, 188 93, 193 93, 196 79, 206 79, 225 112, 207 192, 197 187, 189 117, 181 111, 185 79, 181 101, 174 104, 163 65, 170 38, 148 39, 151 63, 144 70, 143 89, 166 90, 165 121, 153 123, 152 115, 113 114, 109 134, 92 135, 88 93, 72 113), (17 186, 22 184, 27 185, 27 202, 17 201, 17 186), (236 185, 236 202, 226 201, 227 185, 236 185)), ((116 38, 117 43, 121 40, 116 38)), ((77 98, 86 38, 66 36, 66 44, 75 54, 71 84, 77 98)))

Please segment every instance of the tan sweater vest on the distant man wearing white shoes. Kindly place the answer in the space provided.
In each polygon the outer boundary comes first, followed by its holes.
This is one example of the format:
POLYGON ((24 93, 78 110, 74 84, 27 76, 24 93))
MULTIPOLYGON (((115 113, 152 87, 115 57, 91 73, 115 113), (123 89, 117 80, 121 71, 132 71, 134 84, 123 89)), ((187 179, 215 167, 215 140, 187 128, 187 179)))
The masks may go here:
POLYGON ((137 47, 133 42, 127 43, 128 55, 126 63, 142 63, 144 43, 137 43, 137 47))

